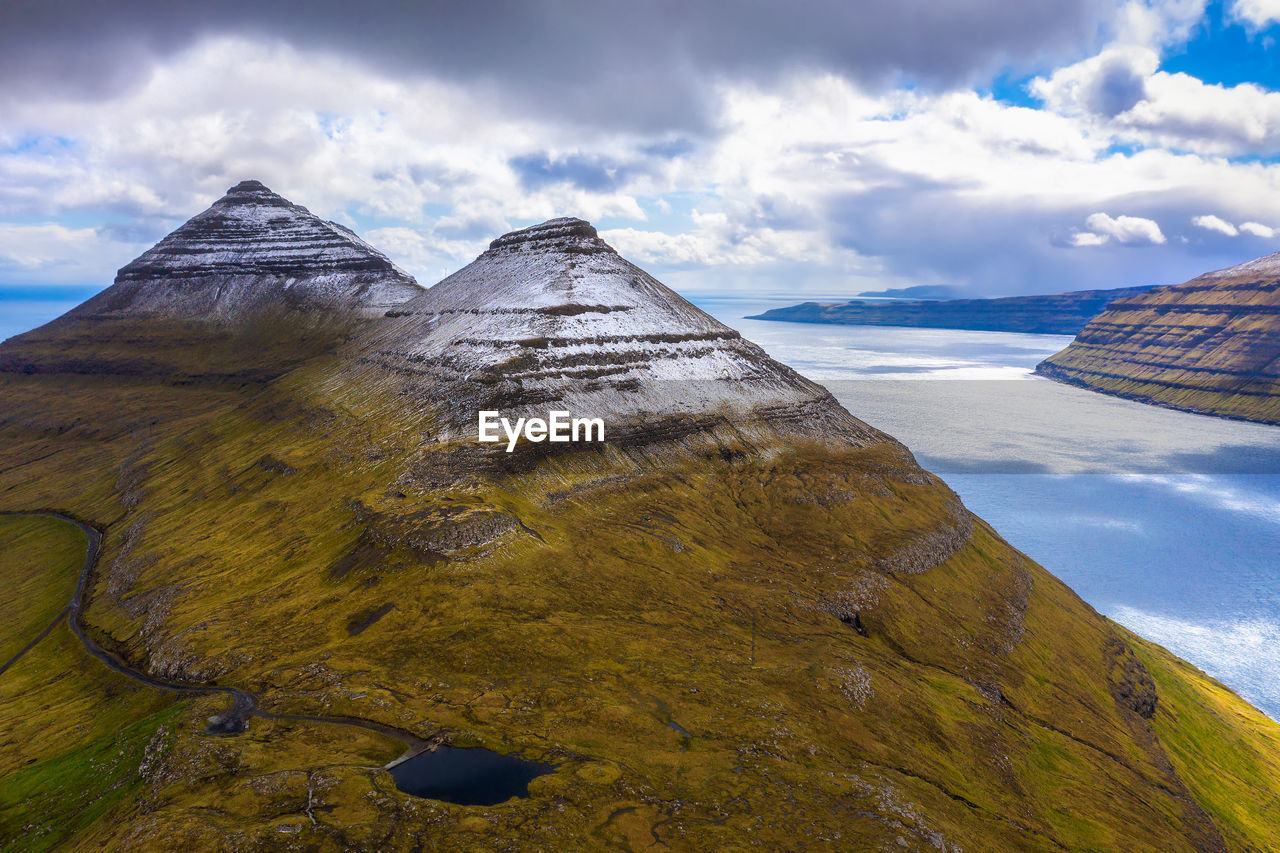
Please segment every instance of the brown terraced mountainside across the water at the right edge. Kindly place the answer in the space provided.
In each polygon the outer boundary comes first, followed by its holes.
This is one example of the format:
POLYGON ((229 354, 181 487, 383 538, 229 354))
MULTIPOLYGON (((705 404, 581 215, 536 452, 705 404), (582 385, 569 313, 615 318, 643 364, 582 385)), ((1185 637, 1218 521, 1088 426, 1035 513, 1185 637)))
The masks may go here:
POLYGON ((1036 371, 1171 409, 1280 424, 1280 252, 1119 300, 1036 371))

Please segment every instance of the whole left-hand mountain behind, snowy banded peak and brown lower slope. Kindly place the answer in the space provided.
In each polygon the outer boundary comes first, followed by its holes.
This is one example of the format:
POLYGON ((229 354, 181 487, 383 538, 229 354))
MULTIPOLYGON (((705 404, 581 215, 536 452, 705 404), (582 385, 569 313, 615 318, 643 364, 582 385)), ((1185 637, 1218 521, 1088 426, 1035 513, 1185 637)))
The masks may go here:
POLYGON ((32 500, 49 507, 92 471, 129 482, 166 430, 234 410, 421 292, 351 232, 241 182, 97 296, 0 342, 9 475, 28 496, 47 484, 32 500))

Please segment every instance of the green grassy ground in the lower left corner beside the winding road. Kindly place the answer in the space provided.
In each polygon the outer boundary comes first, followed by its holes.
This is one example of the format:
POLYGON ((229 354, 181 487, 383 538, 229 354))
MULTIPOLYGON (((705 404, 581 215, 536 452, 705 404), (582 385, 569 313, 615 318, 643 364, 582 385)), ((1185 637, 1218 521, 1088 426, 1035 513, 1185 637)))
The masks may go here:
MULTIPOLYGON (((84 547, 65 521, 0 516, 0 649, 24 647, 63 611, 84 547)), ((51 849, 136 798, 172 704, 91 658, 60 621, 0 674, 0 848, 51 849)))

